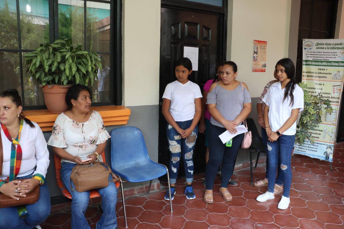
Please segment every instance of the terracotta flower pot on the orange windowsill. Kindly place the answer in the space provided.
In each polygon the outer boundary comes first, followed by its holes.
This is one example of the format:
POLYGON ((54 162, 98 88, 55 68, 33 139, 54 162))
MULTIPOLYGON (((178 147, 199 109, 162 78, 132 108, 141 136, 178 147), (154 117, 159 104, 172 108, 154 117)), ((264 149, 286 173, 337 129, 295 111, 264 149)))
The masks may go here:
POLYGON ((61 114, 68 110, 65 97, 72 84, 45 85, 42 87, 44 102, 51 114, 61 114))

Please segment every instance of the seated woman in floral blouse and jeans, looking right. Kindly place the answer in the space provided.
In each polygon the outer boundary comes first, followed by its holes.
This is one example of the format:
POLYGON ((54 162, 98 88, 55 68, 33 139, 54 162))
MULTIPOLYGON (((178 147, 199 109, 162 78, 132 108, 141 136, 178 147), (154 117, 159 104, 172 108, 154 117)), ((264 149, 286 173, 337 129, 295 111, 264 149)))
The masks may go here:
MULTIPOLYGON (((69 177, 72 169, 78 164, 90 164, 101 160, 99 154, 104 151, 106 140, 110 138, 105 130, 103 119, 96 111, 91 110, 90 90, 83 85, 73 85, 66 94, 68 111, 57 116, 52 136, 48 145, 62 158, 61 178, 64 186, 72 195, 72 228, 90 228, 85 218, 89 202, 89 191, 72 191, 69 177)), ((109 181, 112 180, 109 175, 109 181)), ((97 229, 116 228, 117 188, 110 182, 105 188, 98 188, 102 197, 103 215, 97 222, 97 229)))

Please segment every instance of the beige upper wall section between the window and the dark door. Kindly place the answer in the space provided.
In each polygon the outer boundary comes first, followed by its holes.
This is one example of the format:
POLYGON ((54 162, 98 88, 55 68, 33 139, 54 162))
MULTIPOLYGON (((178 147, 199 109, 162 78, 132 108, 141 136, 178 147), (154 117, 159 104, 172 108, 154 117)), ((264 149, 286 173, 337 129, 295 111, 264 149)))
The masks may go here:
POLYGON ((123 105, 159 103, 160 0, 123 0, 123 105))

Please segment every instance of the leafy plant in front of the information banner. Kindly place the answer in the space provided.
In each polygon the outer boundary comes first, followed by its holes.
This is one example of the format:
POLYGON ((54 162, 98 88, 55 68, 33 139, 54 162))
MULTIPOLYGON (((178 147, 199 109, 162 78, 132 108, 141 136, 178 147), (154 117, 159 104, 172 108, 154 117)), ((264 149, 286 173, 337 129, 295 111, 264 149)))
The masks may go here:
POLYGON ((318 124, 321 123, 323 109, 325 108, 325 112, 332 113, 332 106, 330 100, 323 98, 322 94, 310 94, 307 91, 307 84, 299 83, 299 86, 302 88, 304 94, 304 110, 302 111, 300 121, 297 124, 295 143, 302 145, 307 139, 311 144, 314 144, 315 139, 312 137, 312 133, 309 133, 308 130, 315 130, 318 124))

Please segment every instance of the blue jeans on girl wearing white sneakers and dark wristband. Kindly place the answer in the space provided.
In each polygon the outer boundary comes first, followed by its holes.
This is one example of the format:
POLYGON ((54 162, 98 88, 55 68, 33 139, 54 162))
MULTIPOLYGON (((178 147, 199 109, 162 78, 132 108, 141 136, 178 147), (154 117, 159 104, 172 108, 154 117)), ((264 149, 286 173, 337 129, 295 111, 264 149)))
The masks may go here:
POLYGON ((281 135, 277 141, 267 143, 268 148, 268 192, 272 192, 275 186, 277 166, 281 168, 283 174, 283 196, 289 197, 291 185, 291 152, 294 147, 295 135, 281 135), (284 168, 283 168, 284 167, 284 168))

